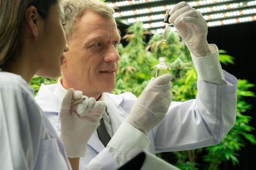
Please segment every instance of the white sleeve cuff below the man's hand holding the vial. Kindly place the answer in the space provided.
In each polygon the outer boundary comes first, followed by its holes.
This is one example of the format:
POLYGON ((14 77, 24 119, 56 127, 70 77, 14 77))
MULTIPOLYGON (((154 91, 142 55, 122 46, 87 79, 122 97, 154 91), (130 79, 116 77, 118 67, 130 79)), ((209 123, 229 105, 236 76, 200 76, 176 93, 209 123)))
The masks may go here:
POLYGON ((150 144, 150 140, 138 129, 123 122, 118 131, 107 145, 109 152, 116 158, 119 165, 127 161, 127 155, 131 150, 144 150, 150 144))

